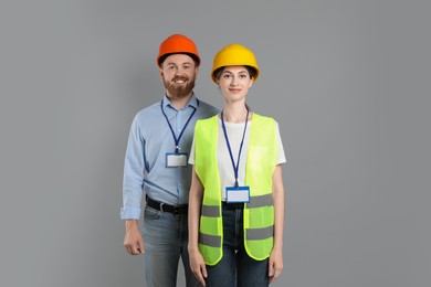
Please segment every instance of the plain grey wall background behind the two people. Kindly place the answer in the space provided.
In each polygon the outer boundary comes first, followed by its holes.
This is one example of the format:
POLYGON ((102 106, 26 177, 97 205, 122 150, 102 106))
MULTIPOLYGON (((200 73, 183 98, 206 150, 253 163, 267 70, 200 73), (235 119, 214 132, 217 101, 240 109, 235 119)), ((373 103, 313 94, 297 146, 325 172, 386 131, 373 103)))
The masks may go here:
MULTIPOLYGON (((275 117, 284 272, 273 286, 431 283, 429 1, 2 1, 1 286, 144 286, 123 247, 123 160, 136 111, 162 96, 171 33, 203 60, 251 47, 249 104, 275 117)), ((181 284, 183 286, 181 277, 181 284)))

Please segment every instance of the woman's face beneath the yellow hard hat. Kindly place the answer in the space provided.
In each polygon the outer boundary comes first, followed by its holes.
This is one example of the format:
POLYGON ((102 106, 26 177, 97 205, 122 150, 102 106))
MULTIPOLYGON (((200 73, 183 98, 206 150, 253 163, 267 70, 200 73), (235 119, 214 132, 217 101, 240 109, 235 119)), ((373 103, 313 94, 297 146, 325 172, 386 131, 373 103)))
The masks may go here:
POLYGON ((245 66, 227 66, 220 74, 218 85, 228 102, 244 100, 253 79, 245 66))

